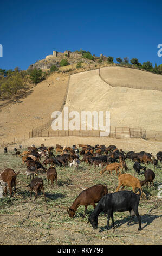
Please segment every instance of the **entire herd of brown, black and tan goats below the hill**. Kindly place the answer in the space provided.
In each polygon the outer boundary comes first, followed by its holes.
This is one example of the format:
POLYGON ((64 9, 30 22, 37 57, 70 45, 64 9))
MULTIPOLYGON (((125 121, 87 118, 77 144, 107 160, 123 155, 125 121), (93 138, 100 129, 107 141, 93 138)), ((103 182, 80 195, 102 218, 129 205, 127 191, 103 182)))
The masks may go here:
MULTIPOLYGON (((21 145, 19 146, 22 148, 21 145)), ((27 151, 18 151, 14 149, 14 154, 22 158, 23 164, 26 164, 27 170, 25 174, 27 179, 30 176, 33 176, 33 179, 30 181, 28 187, 30 187, 30 199, 32 197, 32 191, 35 192, 35 199, 37 198, 38 192, 43 191, 44 200, 46 200, 46 194, 43 187, 43 179, 38 177, 38 172, 42 169, 46 172, 47 180, 51 180, 51 186, 53 187, 54 180, 56 181, 57 186, 57 170, 56 166, 70 166, 78 172, 80 162, 85 162, 87 165, 93 165, 94 168, 101 166, 102 170, 100 174, 108 171, 112 174, 112 171, 116 172, 118 175, 119 185, 116 188, 115 193, 109 193, 107 185, 94 185, 92 187, 83 190, 79 196, 76 197, 72 206, 67 209, 68 215, 71 218, 74 218, 75 212, 80 205, 85 206, 85 214, 88 205, 94 207, 94 211, 90 214, 88 222, 92 224, 92 227, 96 229, 98 227, 98 215, 101 211, 107 216, 107 229, 109 228, 109 218, 112 218, 112 226, 114 227, 113 212, 115 211, 129 211, 131 218, 128 222, 128 225, 131 225, 134 216, 136 215, 139 221, 139 228, 141 230, 141 219, 138 212, 139 200, 145 194, 142 192, 142 186, 145 184, 148 186, 148 182, 154 186, 153 180, 155 178, 155 173, 151 169, 146 169, 145 164, 152 164, 154 170, 158 166, 158 161, 162 163, 162 152, 159 151, 156 155, 156 158, 151 154, 145 151, 135 153, 134 151, 129 151, 125 153, 122 149, 118 149, 115 145, 82 145, 79 144, 78 148, 76 145, 73 147, 61 147, 56 144, 56 154, 53 154, 54 147, 44 147, 41 144, 41 147, 36 148, 35 145, 28 147, 27 151), (42 163, 40 160, 42 157, 45 157, 42 163), (81 159, 82 157, 82 159, 81 159), (134 171, 140 174, 140 170, 144 170, 144 180, 139 180, 135 176, 132 176, 129 173, 121 173, 121 170, 128 170, 126 165, 126 159, 134 162, 133 168, 134 171), (144 165, 142 165, 144 164, 144 165), (49 168, 47 168, 49 166, 49 168), (118 174, 119 173, 119 174, 118 174), (121 191, 119 188, 122 186, 121 191), (133 191, 125 191, 124 188, 132 187, 133 191), (138 191, 137 191, 138 190, 138 191), (98 205, 96 206, 96 203, 98 205)), ((4 148, 4 153, 8 153, 7 147, 4 148)), ((20 172, 15 173, 13 169, 5 169, 0 173, 0 185, 5 187, 5 195, 7 194, 7 185, 9 187, 10 196, 12 195, 12 188, 14 188, 14 197, 16 193, 16 177, 20 172)), ((146 195, 145 195, 146 196, 146 195)), ((87 222, 87 223, 88 223, 87 222)))

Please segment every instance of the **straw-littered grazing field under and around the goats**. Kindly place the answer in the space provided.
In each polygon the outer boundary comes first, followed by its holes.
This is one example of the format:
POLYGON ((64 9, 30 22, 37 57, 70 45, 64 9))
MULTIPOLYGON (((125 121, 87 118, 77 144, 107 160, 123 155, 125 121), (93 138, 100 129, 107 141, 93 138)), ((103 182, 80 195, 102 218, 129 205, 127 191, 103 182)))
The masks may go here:
MULTIPOLYGON (((78 173, 70 167, 56 167, 58 187, 54 182, 54 188, 52 189, 51 185, 48 185, 46 173, 40 171, 38 176, 42 177, 44 182, 46 202, 43 193, 41 193, 34 204, 34 193, 32 200, 30 200, 30 192, 27 188, 29 180, 27 181, 24 174, 26 168, 22 165, 21 157, 12 154, 13 149, 11 148, 7 154, 0 153, 0 170, 12 168, 15 172, 18 170, 21 172, 16 180, 16 198, 3 196, 0 199, 1 245, 161 244, 162 199, 157 197, 162 176, 160 163, 158 163, 158 169, 155 169, 154 187, 146 188, 146 185, 143 187, 147 197, 142 198, 139 203, 142 230, 138 231, 136 217, 130 227, 126 226, 129 220, 129 212, 115 212, 115 228, 111 229, 112 222, 110 221, 109 230, 104 229, 107 218, 100 214, 98 229, 93 230, 90 223, 87 224, 88 216, 93 211, 92 206, 88 206, 86 216, 83 215, 84 206, 80 206, 74 219, 69 218, 67 208, 72 205, 82 190, 95 184, 107 184, 108 193, 115 192, 118 186, 118 176, 115 173, 109 175, 105 172, 101 175, 99 173, 101 167, 97 167, 95 170, 93 166, 86 166, 85 163, 80 164, 78 173)), ((129 160, 126 160, 126 163, 129 168, 127 173, 144 180, 144 172, 141 172, 141 175, 134 174, 134 163, 129 160)), ((153 166, 147 164, 145 166, 153 170, 153 166)), ((126 189, 131 190, 131 188, 126 189)))

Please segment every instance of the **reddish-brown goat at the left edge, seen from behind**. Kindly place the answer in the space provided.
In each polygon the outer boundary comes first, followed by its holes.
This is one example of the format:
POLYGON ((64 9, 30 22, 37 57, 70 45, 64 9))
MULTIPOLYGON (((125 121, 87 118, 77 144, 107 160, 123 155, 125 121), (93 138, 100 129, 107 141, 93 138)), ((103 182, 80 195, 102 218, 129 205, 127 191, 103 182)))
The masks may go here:
POLYGON ((3 170, 3 172, 0 173, 0 184, 2 186, 5 186, 5 195, 7 195, 7 185, 9 187, 10 191, 10 197, 12 195, 12 187, 14 187, 14 197, 16 193, 16 176, 20 172, 15 173, 14 170, 8 168, 3 170))

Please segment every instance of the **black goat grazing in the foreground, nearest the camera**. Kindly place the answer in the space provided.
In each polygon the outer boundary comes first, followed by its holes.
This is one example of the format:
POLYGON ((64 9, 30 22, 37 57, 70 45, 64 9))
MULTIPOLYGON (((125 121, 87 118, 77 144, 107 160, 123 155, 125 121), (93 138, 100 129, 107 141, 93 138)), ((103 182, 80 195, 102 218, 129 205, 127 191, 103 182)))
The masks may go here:
POLYGON ((139 222, 138 230, 141 230, 141 217, 138 212, 140 195, 140 190, 139 195, 135 194, 132 191, 119 191, 111 194, 106 194, 104 197, 101 198, 100 202, 98 203, 92 214, 90 214, 88 222, 90 222, 94 229, 98 228, 98 216, 100 212, 103 211, 104 213, 108 214, 106 229, 109 229, 110 217, 112 219, 112 226, 114 227, 113 212, 129 211, 131 214, 131 218, 128 221, 127 225, 131 225, 131 222, 136 215, 139 222))

